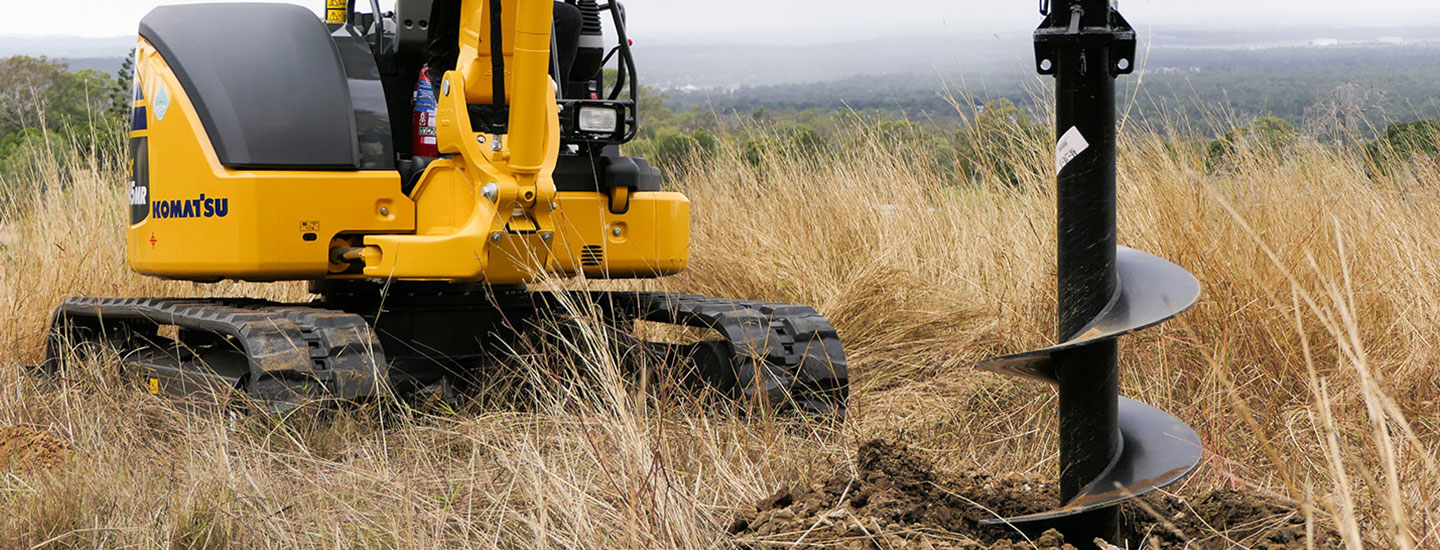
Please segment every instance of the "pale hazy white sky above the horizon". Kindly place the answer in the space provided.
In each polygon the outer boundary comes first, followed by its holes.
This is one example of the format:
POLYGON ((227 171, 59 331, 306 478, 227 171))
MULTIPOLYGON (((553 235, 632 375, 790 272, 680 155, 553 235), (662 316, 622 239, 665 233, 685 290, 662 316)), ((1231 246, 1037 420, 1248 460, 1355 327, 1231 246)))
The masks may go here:
MULTIPOLYGON (((0 35, 125 36, 135 32, 151 7, 166 3, 199 1, 0 0, 0 13, 6 13, 10 23, 0 35)), ((315 9, 324 0, 287 3, 315 9)), ((393 0, 380 4, 389 9, 393 0)), ((868 35, 1011 29, 1038 22, 1038 0, 628 0, 625 4, 636 40, 662 42, 854 40, 868 35), (877 12, 876 6, 883 10, 877 12)), ((1153 23, 1191 27, 1440 23, 1440 1, 1436 0, 1123 0, 1120 9, 1142 27, 1153 23)))

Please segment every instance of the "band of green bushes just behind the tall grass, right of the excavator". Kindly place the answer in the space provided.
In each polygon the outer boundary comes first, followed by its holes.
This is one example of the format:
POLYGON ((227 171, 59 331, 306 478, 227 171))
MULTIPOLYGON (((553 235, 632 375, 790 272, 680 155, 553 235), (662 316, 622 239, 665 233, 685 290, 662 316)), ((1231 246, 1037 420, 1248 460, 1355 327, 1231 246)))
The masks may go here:
MULTIPOLYGON (((1436 88, 1440 88, 1437 81, 1436 88)), ((1174 128, 1136 122, 1159 135, 1171 135, 1174 147, 1194 147, 1207 170, 1224 173, 1240 158, 1283 158, 1296 145, 1313 143, 1359 153, 1372 176, 1392 174, 1414 161, 1440 161, 1440 121, 1381 121, 1372 130, 1377 95, 1362 85, 1336 86, 1308 109, 1300 124, 1260 115, 1244 122, 1211 118, 1215 138, 1195 132, 1191 121, 1174 128), (1250 154, 1237 154, 1237 153, 1250 154)), ((979 107, 952 105, 953 117, 910 118, 890 109, 772 108, 756 107, 747 114, 716 112, 704 107, 672 109, 665 94, 644 91, 641 138, 632 145, 651 157, 671 177, 720 154, 729 140, 746 163, 760 166, 769 158, 821 158, 845 147, 887 147, 933 166, 949 183, 968 181, 1021 184, 1022 167, 1044 166, 1054 144, 1048 117, 1037 115, 1011 99, 979 107)))

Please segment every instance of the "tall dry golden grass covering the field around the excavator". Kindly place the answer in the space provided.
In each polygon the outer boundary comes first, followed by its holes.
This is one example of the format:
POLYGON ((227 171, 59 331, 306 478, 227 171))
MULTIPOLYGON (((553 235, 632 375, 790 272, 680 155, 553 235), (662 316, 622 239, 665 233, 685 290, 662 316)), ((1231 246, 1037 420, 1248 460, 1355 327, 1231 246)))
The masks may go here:
MULTIPOLYGON (((599 351, 592 383, 454 418, 232 422, 125 389, 104 359, 48 392, 19 366, 39 359, 62 297, 304 298, 128 274, 118 171, 56 167, 24 220, 0 227, 14 232, 0 425, 75 455, 0 474, 0 546, 716 547, 733 510, 845 468, 877 436, 942 469, 1051 475, 1051 392, 973 370, 1050 341, 1044 155, 1021 160, 1021 189, 945 189, 904 151, 845 151, 762 168, 729 151, 697 168, 694 269, 662 284, 829 315, 855 383, 840 433, 668 412, 599 351)), ((1351 155, 1302 145, 1241 150, 1211 176, 1198 150, 1156 135, 1122 151, 1122 242, 1205 287, 1182 323, 1122 347, 1125 393, 1207 443, 1179 491, 1287 497, 1352 549, 1440 547, 1440 171, 1372 181, 1351 155)))

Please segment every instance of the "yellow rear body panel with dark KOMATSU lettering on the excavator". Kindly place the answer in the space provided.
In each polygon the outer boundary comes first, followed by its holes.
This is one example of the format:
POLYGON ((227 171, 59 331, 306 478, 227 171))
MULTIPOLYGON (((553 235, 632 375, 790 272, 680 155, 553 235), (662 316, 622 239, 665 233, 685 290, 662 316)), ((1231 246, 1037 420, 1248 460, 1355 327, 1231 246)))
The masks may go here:
MULTIPOLYGON (((330 275, 337 235, 403 233, 415 203, 393 170, 246 168, 220 163, 176 72, 135 49, 130 154, 130 266, 189 281, 330 275)), ((301 131, 301 128, 295 128, 301 131)))

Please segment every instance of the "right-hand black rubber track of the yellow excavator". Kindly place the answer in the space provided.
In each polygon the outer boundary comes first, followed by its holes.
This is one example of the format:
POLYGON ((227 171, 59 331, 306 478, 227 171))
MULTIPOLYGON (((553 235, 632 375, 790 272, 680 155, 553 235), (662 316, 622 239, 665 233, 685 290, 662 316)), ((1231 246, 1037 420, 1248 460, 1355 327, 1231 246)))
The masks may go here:
POLYGON ((703 374, 733 397, 845 416, 850 369, 844 346, 835 327, 808 305, 665 292, 602 292, 595 298, 645 321, 720 333, 730 371, 703 374))

